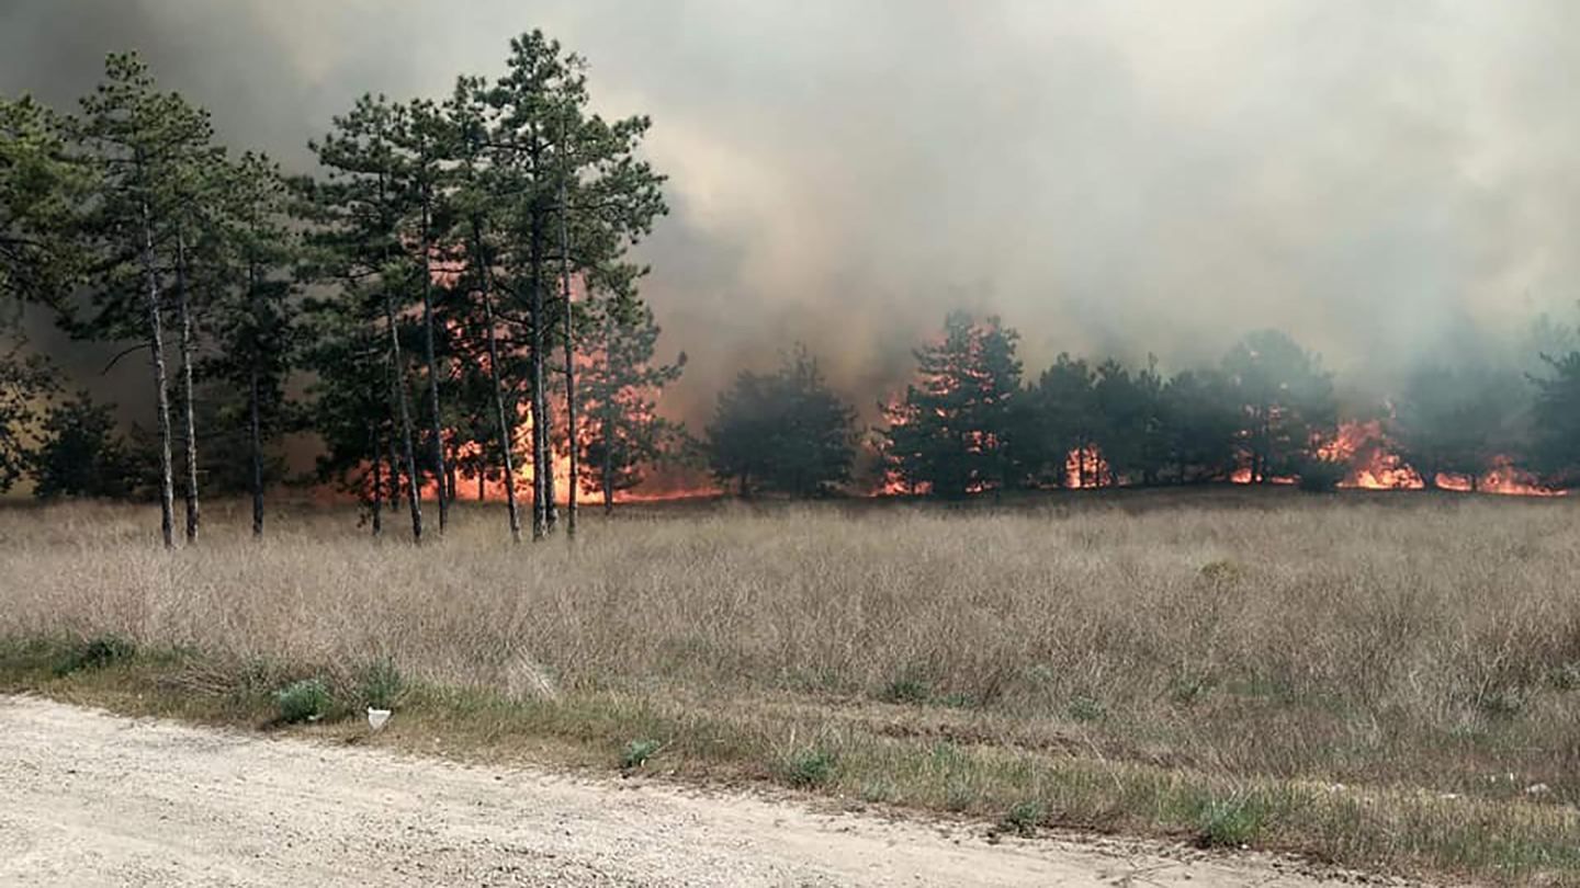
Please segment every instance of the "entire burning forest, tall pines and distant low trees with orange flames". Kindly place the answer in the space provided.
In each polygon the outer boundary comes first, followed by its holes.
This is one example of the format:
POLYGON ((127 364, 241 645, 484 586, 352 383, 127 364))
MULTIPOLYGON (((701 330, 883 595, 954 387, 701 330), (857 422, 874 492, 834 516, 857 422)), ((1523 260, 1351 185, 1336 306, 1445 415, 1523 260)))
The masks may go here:
POLYGON ((536 32, 498 77, 357 100, 310 144, 311 175, 231 156, 136 55, 111 57, 77 114, 8 101, 3 125, 33 152, 16 161, 33 191, 8 210, 27 245, 8 294, 156 359, 156 398, 153 431, 128 436, 36 359, 8 357, 0 480, 155 499, 171 545, 179 525, 196 540, 199 488, 248 493, 262 534, 283 484, 362 502, 374 532, 397 509, 414 537, 434 518, 442 532, 452 502, 477 499, 506 506, 514 539, 544 539, 621 501, 1207 484, 1556 496, 1580 466, 1574 351, 1540 374, 1422 370, 1341 409, 1334 374, 1280 332, 1172 374, 1059 354, 1032 378, 1016 330, 964 313, 901 390, 845 390, 793 346, 719 384, 713 416, 668 416, 686 354, 660 357, 632 258, 668 212, 649 122, 589 111, 585 63, 536 32), (155 144, 158 163, 139 160, 155 144), (882 404, 866 427, 864 403, 882 404))

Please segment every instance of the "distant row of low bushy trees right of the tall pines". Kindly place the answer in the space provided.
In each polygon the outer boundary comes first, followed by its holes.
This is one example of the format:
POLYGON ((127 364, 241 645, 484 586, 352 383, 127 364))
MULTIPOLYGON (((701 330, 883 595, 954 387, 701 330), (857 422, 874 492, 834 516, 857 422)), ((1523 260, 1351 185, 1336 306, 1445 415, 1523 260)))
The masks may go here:
MULTIPOLYGON (((1035 379, 999 319, 950 314, 916 351, 915 382, 861 435, 855 411, 796 351, 774 374, 743 373, 708 428, 714 476, 739 493, 834 493, 863 439, 888 493, 961 498, 995 490, 1213 482, 1337 487, 1356 466, 1340 439, 1334 374, 1281 332, 1234 344, 1215 367, 1166 376, 1060 354, 1035 379)), ((1580 351, 1539 356, 1545 373, 1422 367, 1368 411, 1389 457, 1422 487, 1477 480, 1512 463, 1552 487, 1580 477, 1580 351)), ((1351 417, 1354 419, 1354 417, 1351 417)))

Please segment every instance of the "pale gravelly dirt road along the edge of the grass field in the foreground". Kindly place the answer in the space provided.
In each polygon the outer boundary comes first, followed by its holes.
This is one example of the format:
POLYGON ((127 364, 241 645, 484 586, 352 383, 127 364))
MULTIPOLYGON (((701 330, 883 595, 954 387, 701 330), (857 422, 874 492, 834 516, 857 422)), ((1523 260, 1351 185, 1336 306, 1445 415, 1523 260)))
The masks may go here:
POLYGON ((0 885, 1316 883, 1190 856, 0 697, 0 885))

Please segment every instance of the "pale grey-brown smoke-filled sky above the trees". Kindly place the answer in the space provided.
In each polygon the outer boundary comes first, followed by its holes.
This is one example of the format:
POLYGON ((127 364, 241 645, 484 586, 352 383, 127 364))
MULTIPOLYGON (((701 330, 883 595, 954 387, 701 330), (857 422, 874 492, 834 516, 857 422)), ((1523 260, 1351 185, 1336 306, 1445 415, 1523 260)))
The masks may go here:
POLYGON ((540 27, 654 119, 668 403, 787 337, 863 408, 951 307, 1164 367, 1283 327, 1356 379, 1580 294, 1580 3, 0 0, 0 92, 142 51, 305 167, 362 92, 442 95, 540 27))

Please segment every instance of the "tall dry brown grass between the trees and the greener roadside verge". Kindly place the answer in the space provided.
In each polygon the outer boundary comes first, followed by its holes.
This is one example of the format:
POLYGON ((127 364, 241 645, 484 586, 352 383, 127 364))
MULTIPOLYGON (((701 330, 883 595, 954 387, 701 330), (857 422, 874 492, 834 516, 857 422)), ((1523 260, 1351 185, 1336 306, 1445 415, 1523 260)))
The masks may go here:
POLYGON ((512 548, 495 510, 422 548, 303 510, 174 555, 144 510, 11 509, 0 637, 830 719, 897 700, 1005 747, 1580 801, 1572 504, 1256 493, 654 509, 574 548, 512 548))

